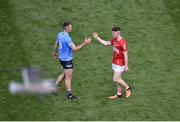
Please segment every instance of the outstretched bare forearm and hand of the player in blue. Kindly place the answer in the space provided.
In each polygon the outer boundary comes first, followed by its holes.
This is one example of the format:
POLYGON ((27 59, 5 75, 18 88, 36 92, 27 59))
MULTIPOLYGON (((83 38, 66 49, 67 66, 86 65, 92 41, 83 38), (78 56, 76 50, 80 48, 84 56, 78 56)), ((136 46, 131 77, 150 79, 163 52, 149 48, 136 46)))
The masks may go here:
POLYGON ((74 52, 77 52, 77 51, 79 51, 81 48, 83 48, 83 47, 85 47, 86 45, 88 45, 88 44, 90 44, 91 43, 91 39, 90 38, 88 38, 88 39, 84 39, 84 42, 82 43, 82 44, 80 44, 80 45, 78 45, 78 46, 76 46, 75 44, 73 44, 72 46, 71 46, 71 48, 72 48, 72 50, 74 51, 74 52))

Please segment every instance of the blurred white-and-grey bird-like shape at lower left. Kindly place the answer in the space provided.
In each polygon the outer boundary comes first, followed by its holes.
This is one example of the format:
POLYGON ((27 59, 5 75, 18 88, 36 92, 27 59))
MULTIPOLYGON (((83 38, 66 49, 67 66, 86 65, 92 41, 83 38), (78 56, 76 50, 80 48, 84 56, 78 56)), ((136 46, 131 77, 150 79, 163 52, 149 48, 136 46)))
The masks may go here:
POLYGON ((41 72, 36 68, 23 68, 22 78, 24 84, 12 81, 9 84, 9 91, 12 94, 49 94, 56 90, 53 79, 41 79, 41 72))

